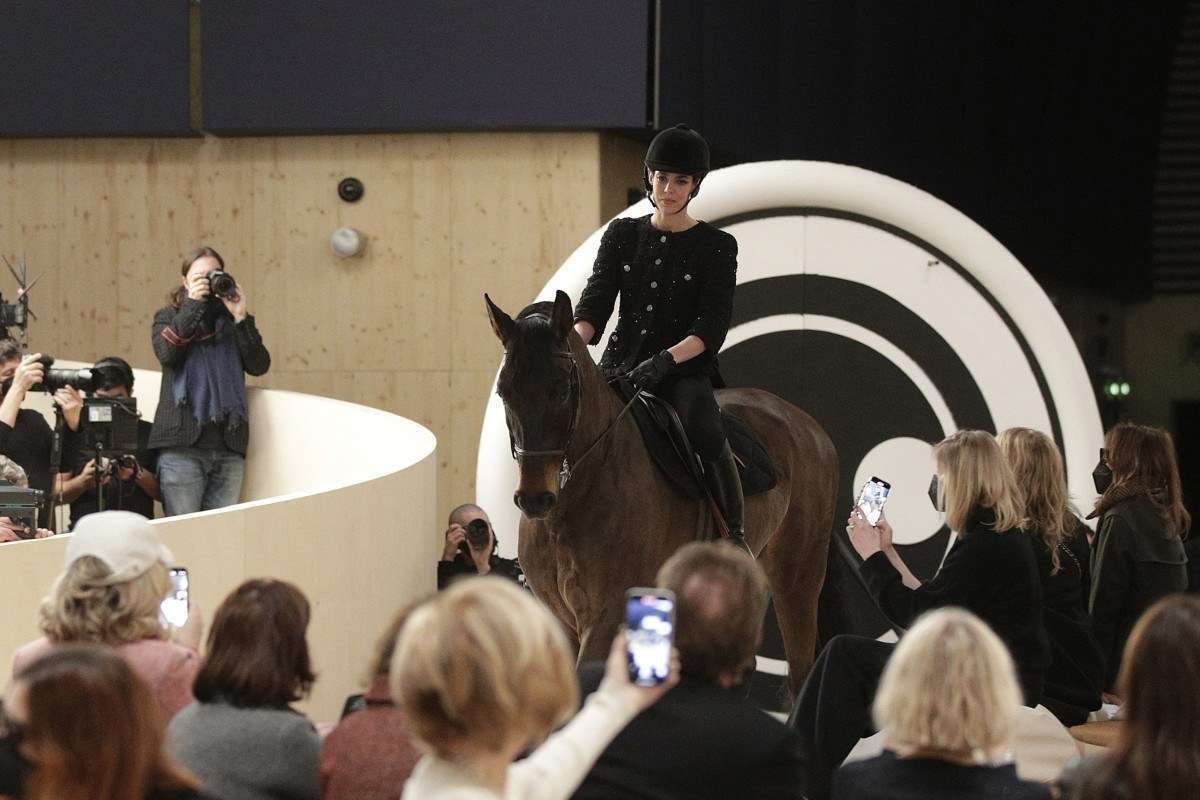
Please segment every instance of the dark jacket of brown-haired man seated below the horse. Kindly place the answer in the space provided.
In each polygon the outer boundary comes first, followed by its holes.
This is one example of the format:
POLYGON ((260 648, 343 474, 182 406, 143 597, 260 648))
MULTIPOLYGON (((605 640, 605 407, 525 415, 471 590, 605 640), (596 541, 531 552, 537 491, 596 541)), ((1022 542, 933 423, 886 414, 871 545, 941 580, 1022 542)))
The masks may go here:
MULTIPOLYGON (((604 664, 580 668, 586 697, 604 664)), ((601 753, 575 800, 796 798, 803 764, 794 733, 737 691, 684 678, 601 753)))

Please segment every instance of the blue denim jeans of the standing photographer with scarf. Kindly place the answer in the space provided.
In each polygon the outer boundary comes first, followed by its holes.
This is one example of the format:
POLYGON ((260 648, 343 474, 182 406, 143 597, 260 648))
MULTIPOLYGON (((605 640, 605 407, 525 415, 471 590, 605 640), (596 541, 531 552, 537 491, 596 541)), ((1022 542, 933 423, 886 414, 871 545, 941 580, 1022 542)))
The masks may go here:
POLYGON ((168 447, 158 453, 158 487, 168 517, 233 505, 246 457, 230 450, 168 447))

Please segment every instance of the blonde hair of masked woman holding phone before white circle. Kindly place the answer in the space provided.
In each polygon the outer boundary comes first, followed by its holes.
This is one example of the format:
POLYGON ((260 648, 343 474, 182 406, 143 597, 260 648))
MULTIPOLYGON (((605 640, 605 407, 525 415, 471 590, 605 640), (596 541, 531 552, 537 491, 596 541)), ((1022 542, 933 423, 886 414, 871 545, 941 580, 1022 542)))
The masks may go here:
POLYGON ((937 462, 937 500, 946 509, 946 524, 960 536, 979 509, 996 515, 992 530, 1019 528, 1025 499, 1013 469, 996 438, 986 431, 959 431, 934 447, 937 462))

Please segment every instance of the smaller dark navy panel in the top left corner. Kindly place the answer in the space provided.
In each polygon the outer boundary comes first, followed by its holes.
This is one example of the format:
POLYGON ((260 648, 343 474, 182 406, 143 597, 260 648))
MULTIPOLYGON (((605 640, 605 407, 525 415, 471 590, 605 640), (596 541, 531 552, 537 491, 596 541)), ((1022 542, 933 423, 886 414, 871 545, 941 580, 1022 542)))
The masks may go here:
POLYGON ((188 132, 185 0, 0 11, 0 137, 188 132))

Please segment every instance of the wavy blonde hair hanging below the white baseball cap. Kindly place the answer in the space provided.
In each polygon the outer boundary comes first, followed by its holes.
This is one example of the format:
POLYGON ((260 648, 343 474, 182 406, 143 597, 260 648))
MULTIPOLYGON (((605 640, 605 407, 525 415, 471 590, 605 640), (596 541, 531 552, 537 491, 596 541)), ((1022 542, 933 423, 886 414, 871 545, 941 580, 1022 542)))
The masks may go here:
POLYGON ((38 627, 50 642, 119 645, 167 636, 158 609, 170 591, 167 566, 155 561, 125 583, 108 584, 108 566, 80 555, 59 576, 42 600, 38 627))

